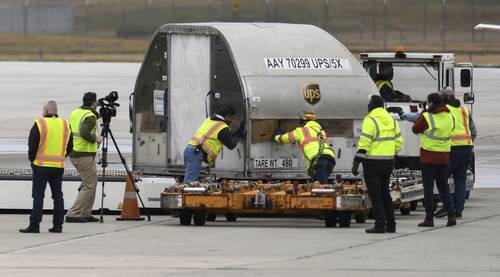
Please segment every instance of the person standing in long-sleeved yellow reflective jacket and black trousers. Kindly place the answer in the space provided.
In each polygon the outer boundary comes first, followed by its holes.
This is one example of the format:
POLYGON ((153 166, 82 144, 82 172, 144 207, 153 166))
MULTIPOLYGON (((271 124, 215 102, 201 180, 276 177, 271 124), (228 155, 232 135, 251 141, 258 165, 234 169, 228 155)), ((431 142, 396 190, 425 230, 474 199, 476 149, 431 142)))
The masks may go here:
POLYGON ((363 163, 364 179, 375 218, 375 226, 366 229, 366 233, 396 232, 389 181, 394 157, 402 144, 399 125, 384 109, 384 100, 378 95, 370 96, 368 115, 363 119, 351 170, 353 175, 358 175, 359 164, 363 163))

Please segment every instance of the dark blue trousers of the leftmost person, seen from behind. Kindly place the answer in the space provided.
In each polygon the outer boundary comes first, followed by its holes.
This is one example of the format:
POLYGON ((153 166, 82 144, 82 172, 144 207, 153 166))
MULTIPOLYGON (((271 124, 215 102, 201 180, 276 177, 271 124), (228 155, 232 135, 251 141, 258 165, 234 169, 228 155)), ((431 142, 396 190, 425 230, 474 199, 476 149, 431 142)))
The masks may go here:
POLYGON ((52 199, 54 199, 54 227, 60 227, 64 221, 64 200, 62 193, 63 173, 51 173, 33 166, 33 210, 31 210, 30 225, 39 225, 43 215, 43 198, 47 182, 50 185, 52 199))

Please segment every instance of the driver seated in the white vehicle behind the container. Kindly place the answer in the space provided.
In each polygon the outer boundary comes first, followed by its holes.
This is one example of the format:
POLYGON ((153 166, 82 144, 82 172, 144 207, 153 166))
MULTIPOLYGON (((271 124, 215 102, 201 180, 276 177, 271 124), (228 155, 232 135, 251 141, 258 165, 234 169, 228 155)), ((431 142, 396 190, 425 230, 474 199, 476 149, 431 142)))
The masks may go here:
POLYGON ((381 62, 378 66, 378 74, 375 75, 374 81, 380 96, 386 102, 408 102, 411 97, 398 90, 394 89, 392 78, 394 77, 394 69, 392 63, 381 62))

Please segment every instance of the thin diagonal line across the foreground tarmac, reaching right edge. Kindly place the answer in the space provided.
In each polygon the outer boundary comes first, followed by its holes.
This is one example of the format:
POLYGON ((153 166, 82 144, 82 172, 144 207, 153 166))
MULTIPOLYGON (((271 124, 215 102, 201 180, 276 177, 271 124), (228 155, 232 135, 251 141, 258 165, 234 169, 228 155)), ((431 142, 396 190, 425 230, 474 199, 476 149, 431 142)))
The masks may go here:
MULTIPOLYGON (((444 229, 444 228, 456 228, 457 226, 460 226, 460 225, 478 222, 478 221, 482 221, 482 220, 487 220, 487 219, 491 219, 491 218, 495 218, 495 217, 499 217, 499 216, 500 216, 500 214, 493 214, 493 215, 482 216, 482 217, 478 217, 478 218, 472 218, 469 220, 460 220, 460 223, 457 223, 457 225, 455 227, 446 227, 446 225, 443 225, 440 227, 424 229, 424 230, 417 231, 417 232, 395 235, 395 236, 388 237, 388 238, 381 239, 381 240, 359 243, 359 244, 341 247, 341 248, 337 248, 337 249, 333 249, 333 250, 329 250, 329 251, 317 252, 317 253, 310 254, 310 255, 285 258, 285 259, 282 259, 281 262, 292 262, 292 261, 299 261, 299 260, 305 260, 305 259, 309 259, 309 258, 324 256, 324 255, 328 255, 328 254, 342 252, 345 250, 356 249, 356 248, 361 248, 361 247, 365 247, 365 246, 371 246, 371 245, 375 245, 375 244, 382 243, 382 242, 387 242, 387 241, 397 240, 400 238, 405 238, 405 237, 419 235, 419 234, 423 234, 423 233, 427 233, 427 232, 432 232, 432 231, 436 231, 436 230, 440 230, 440 229, 444 229)), ((369 234, 367 234, 367 235, 369 236, 369 234)), ((230 266, 230 267, 217 267, 214 270, 243 270, 243 269, 249 269, 249 267, 259 265, 259 264, 276 263, 276 262, 280 262, 280 260, 260 261, 260 262, 254 262, 254 263, 248 263, 248 264, 242 264, 242 265, 230 266)))

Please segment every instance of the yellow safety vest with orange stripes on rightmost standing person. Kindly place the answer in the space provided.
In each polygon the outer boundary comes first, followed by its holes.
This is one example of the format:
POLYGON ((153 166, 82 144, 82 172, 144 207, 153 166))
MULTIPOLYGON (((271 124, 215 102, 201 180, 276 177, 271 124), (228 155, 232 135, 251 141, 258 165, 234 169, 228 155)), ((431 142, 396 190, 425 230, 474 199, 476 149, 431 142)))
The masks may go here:
POLYGON ((451 146, 472 146, 472 136, 470 133, 470 115, 465 106, 458 108, 446 105, 455 120, 455 129, 451 133, 451 146))

